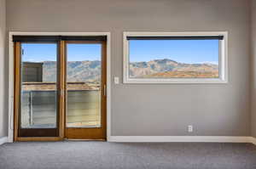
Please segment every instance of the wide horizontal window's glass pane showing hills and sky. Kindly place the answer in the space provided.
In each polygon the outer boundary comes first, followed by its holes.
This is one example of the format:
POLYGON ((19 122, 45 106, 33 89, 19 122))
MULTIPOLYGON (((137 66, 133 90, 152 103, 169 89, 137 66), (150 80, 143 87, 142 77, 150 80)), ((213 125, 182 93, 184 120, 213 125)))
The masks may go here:
POLYGON ((130 78, 218 78, 219 40, 129 40, 130 78))

